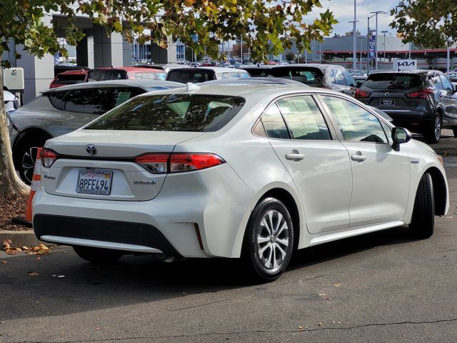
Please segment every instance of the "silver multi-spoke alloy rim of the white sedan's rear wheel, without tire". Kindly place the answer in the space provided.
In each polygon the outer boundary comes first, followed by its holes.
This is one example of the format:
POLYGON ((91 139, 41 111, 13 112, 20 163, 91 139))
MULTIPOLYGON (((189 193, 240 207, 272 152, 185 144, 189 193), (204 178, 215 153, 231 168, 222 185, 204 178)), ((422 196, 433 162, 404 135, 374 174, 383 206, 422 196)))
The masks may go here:
POLYGON ((289 237, 283 215, 272 209, 263 216, 257 234, 257 254, 266 269, 281 267, 286 259, 289 237))

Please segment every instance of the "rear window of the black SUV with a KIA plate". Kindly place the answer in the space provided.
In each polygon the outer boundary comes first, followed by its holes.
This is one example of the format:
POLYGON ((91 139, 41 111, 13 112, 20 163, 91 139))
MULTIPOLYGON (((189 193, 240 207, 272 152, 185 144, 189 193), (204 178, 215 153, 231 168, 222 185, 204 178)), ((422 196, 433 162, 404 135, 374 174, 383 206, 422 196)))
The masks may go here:
POLYGON ((421 76, 415 74, 371 74, 363 86, 369 89, 411 89, 421 86, 421 76))

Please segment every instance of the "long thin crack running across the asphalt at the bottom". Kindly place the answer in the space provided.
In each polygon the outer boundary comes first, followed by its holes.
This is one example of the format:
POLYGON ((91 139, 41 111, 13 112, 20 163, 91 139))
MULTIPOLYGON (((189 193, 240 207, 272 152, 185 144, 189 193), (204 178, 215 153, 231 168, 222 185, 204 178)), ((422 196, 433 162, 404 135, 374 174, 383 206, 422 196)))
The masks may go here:
MULTIPOLYGON (((249 331, 236 331, 236 332, 205 332, 202 334, 176 334, 176 335, 164 335, 164 336, 136 336, 136 337, 115 337, 115 338, 100 338, 100 339, 84 339, 84 340, 71 340, 71 341, 54 341, 55 343, 83 343, 83 342, 116 342, 124 341, 126 339, 179 339, 179 338, 190 338, 190 337, 206 337, 211 335, 219 336, 231 336, 233 334, 275 334, 275 333, 299 333, 299 332, 316 332, 316 331, 328 331, 328 330, 351 330, 358 329, 361 327, 387 327, 390 325, 417 325, 417 324, 436 324, 444 322, 457 322, 457 318, 451 319, 436 319, 436 320, 424 320, 420 322, 404 321, 404 322, 388 322, 388 323, 367 323, 360 325, 353 325, 352 327, 321 327, 318 329, 303 329, 303 330, 249 330, 249 331)), ((49 343, 49 341, 16 341, 14 343, 49 343)))

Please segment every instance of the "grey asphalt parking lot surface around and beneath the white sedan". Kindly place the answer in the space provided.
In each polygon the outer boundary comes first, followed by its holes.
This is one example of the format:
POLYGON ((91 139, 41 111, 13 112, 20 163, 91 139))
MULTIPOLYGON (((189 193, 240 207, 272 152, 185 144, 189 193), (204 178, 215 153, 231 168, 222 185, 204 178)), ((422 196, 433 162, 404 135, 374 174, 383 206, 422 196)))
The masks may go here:
POLYGON ((431 239, 399 227, 313 247, 270 284, 226 260, 0 252, 0 342, 455 342, 457 157, 445 162, 451 209, 431 239))

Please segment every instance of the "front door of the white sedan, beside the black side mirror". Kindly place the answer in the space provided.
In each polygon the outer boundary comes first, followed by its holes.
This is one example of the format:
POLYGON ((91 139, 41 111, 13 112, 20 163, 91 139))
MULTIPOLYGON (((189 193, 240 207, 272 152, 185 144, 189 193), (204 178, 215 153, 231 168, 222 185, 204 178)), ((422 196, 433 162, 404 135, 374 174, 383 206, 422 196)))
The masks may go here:
POLYGON ((355 101, 323 94, 321 99, 351 158, 350 227, 401 219, 409 194, 410 167, 404 149, 395 151, 381 121, 355 101))

